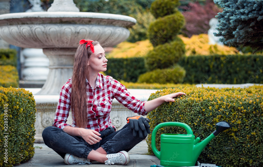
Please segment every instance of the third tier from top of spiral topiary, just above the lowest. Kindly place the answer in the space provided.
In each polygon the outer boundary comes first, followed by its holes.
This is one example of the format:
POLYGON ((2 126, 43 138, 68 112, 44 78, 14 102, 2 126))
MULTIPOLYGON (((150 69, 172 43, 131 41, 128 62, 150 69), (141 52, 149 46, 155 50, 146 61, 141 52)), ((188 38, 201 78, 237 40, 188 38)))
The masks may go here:
POLYGON ((171 43, 156 46, 145 57, 145 65, 149 70, 164 69, 177 63, 185 54, 185 45, 181 38, 171 43))

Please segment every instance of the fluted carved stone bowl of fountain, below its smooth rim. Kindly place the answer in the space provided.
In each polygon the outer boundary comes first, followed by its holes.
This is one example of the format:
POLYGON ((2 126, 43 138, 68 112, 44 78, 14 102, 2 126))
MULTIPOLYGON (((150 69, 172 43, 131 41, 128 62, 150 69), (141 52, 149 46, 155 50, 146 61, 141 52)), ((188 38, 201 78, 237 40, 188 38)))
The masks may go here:
POLYGON ((102 46, 114 46, 130 35, 128 29, 104 25, 42 24, 9 25, 0 29, 0 36, 8 43, 26 48, 77 48, 79 39, 97 39, 102 46), (14 35, 15 34, 15 35, 14 35))

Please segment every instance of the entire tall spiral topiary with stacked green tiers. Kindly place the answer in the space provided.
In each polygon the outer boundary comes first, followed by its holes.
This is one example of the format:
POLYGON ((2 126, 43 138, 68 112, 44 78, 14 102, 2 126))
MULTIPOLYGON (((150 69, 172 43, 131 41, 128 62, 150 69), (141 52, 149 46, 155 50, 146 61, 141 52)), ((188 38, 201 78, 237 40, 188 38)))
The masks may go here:
POLYGON ((145 63, 148 70, 154 71, 140 75, 138 82, 183 82, 185 71, 175 65, 185 55, 185 45, 176 36, 185 24, 183 14, 176 8, 179 5, 179 0, 156 0, 152 3, 150 11, 157 19, 150 24, 148 34, 154 49, 145 56, 145 63))

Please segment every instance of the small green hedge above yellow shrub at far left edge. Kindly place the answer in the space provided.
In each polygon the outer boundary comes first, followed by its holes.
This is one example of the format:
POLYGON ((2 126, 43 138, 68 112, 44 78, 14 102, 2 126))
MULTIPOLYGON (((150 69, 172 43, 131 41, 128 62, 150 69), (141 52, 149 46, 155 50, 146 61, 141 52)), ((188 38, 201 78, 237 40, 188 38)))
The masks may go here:
POLYGON ((0 65, 17 66, 17 52, 14 49, 0 49, 0 65))

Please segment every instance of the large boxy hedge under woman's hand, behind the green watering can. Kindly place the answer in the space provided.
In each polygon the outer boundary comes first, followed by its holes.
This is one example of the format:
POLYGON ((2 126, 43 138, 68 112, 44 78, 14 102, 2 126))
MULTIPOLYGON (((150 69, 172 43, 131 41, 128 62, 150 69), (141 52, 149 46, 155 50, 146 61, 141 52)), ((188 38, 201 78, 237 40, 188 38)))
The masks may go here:
MULTIPOLYGON (((148 113, 150 129, 162 122, 188 124, 201 141, 215 130, 215 124, 227 121, 233 127, 212 139, 200 154, 198 161, 219 166, 263 166, 263 90, 256 88, 174 88, 151 94, 148 100, 175 92, 187 96, 165 102, 148 113)), ((180 127, 163 127, 156 134, 160 150, 160 134, 186 134, 180 127)), ((148 135, 148 151, 151 134, 148 135)), ((173 148, 176 151, 176 148, 173 148)))

